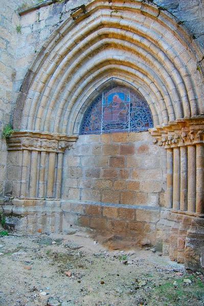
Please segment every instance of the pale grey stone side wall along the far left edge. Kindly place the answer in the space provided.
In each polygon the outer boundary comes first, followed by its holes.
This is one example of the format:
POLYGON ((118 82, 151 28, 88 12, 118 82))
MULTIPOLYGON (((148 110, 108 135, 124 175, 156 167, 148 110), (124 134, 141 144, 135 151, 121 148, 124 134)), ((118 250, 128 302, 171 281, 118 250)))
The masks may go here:
MULTIPOLYGON (((17 1, 0 3, 0 134, 11 120, 12 107, 16 101, 15 90, 15 49, 16 25, 20 17, 15 12, 17 1)), ((5 190, 7 164, 6 141, 0 137, 0 196, 5 190)))

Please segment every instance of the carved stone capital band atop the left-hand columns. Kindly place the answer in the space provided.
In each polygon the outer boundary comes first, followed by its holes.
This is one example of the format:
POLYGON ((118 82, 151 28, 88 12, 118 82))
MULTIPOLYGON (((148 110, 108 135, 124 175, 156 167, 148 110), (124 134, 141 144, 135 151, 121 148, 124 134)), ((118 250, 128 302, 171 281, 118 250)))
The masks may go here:
POLYGON ((8 150, 37 150, 46 152, 64 152, 74 148, 77 136, 54 133, 19 131, 13 133, 7 141, 8 150))

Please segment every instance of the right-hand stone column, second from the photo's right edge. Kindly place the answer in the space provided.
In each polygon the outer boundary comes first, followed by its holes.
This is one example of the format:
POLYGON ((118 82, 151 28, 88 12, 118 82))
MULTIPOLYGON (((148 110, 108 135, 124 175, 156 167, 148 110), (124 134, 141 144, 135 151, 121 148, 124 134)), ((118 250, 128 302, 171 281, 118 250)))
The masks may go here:
POLYGON ((195 212, 196 205, 196 147, 188 145, 188 211, 195 212))

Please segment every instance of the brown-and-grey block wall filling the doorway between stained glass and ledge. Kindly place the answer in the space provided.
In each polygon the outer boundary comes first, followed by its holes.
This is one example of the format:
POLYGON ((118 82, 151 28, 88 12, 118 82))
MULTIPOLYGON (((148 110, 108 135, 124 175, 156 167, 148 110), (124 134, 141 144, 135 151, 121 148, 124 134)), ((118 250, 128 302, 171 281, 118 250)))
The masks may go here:
POLYGON ((81 135, 65 153, 62 198, 164 206, 162 155, 149 132, 81 135))

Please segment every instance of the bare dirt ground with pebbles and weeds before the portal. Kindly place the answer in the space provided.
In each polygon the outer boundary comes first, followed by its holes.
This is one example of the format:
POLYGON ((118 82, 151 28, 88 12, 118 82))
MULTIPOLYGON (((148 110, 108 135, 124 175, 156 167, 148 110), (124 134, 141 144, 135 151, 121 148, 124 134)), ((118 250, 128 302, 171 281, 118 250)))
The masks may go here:
POLYGON ((1 306, 204 305, 201 273, 148 247, 108 250, 70 234, 0 237, 1 306))

